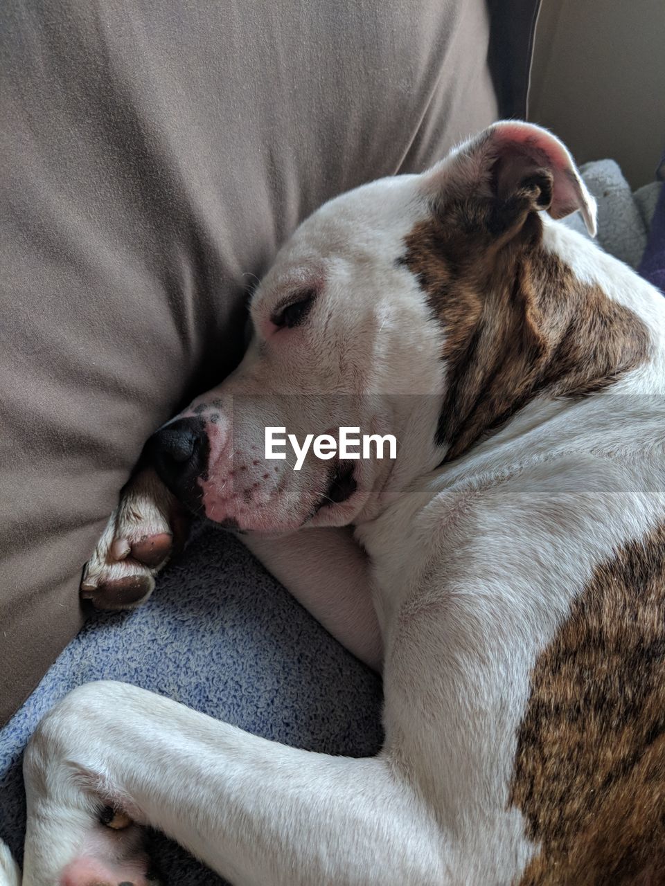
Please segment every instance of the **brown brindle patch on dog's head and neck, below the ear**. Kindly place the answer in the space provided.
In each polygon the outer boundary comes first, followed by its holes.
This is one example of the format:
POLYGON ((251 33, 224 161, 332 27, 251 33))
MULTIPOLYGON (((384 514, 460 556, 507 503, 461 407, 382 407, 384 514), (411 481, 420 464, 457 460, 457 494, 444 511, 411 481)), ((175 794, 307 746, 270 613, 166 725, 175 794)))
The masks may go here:
POLYGON ((448 444, 446 460, 529 400, 599 391, 648 353, 637 315, 545 251, 542 221, 529 209, 546 180, 526 185, 500 206, 451 201, 406 238, 400 262, 444 330, 448 391, 437 443, 448 444))

